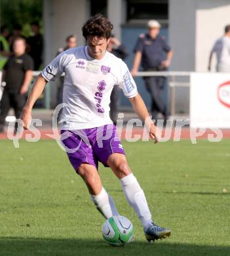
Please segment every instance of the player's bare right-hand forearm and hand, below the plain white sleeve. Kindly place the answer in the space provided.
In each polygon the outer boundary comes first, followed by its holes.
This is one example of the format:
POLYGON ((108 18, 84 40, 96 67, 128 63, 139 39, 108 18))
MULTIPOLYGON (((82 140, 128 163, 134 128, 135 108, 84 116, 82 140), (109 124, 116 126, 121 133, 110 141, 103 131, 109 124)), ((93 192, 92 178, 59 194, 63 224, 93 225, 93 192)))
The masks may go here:
POLYGON ((138 93, 136 96, 129 98, 132 108, 138 114, 140 119, 144 121, 145 125, 147 125, 147 129, 149 130, 149 137, 155 140, 155 143, 159 141, 161 138, 161 131, 154 125, 153 121, 149 117, 149 113, 147 112, 147 108, 145 106, 144 100, 142 96, 138 93))

